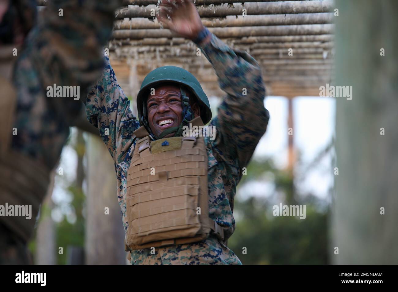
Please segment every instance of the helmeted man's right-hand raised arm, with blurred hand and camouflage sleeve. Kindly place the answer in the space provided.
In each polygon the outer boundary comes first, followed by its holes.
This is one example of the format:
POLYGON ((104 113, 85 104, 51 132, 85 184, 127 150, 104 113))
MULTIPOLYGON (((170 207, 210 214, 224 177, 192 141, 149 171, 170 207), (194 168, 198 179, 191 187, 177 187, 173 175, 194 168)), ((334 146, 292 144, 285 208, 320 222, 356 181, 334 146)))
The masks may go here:
POLYGON ((226 97, 211 122, 211 126, 216 126, 211 143, 217 159, 224 160, 231 172, 240 175, 269 119, 263 104, 265 86, 259 64, 248 53, 230 48, 209 33, 191 0, 162 2, 158 20, 193 40, 213 66, 226 97))

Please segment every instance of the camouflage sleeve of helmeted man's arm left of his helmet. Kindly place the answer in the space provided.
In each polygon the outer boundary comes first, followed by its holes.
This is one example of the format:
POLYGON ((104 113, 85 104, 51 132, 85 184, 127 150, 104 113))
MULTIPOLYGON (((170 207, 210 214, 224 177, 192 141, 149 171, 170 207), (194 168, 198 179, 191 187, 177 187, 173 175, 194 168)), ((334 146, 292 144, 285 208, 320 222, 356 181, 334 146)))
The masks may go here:
POLYGON ((100 131, 115 164, 123 161, 133 144, 133 131, 139 121, 130 110, 130 101, 117 83, 109 58, 105 56, 105 67, 100 78, 89 88, 86 114, 91 124, 100 131))

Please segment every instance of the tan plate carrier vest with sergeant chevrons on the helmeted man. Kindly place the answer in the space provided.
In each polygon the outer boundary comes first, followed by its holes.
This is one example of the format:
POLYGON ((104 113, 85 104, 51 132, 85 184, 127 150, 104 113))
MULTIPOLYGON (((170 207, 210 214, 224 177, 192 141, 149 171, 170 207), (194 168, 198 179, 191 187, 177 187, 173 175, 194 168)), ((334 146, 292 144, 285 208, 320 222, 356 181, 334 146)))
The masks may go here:
MULTIPOLYGON (((200 117, 191 122, 203 125, 200 117)), ((198 242, 211 232, 223 240, 222 227, 209 218, 204 138, 151 141, 143 126, 134 134, 138 140, 127 174, 126 250, 198 242)))

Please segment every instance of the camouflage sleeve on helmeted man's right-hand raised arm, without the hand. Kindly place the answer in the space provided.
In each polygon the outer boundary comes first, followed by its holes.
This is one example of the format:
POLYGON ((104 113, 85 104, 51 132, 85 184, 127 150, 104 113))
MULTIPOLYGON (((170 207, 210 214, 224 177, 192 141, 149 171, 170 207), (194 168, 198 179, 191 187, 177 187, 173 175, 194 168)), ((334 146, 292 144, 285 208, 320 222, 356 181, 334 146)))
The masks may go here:
POLYGON ((217 158, 240 177, 269 120, 263 103, 265 86, 261 68, 248 53, 233 50, 213 34, 211 41, 199 48, 213 66, 220 88, 226 93, 217 117, 210 124, 216 127, 216 137, 210 141, 217 158))

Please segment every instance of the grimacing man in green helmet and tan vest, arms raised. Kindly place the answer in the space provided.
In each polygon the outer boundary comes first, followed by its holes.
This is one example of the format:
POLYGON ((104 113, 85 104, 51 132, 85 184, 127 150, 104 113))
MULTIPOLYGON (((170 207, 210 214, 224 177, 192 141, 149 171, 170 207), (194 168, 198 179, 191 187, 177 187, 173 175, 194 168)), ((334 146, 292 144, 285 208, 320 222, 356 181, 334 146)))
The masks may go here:
POLYGON ((88 119, 115 161, 132 264, 241 264, 225 244, 235 230, 236 185, 269 119, 261 69, 203 27, 194 4, 175 3, 160 4, 158 19, 198 44, 227 93, 209 128, 189 131, 211 120, 191 73, 174 66, 150 72, 137 120, 108 58, 87 97, 88 119))

